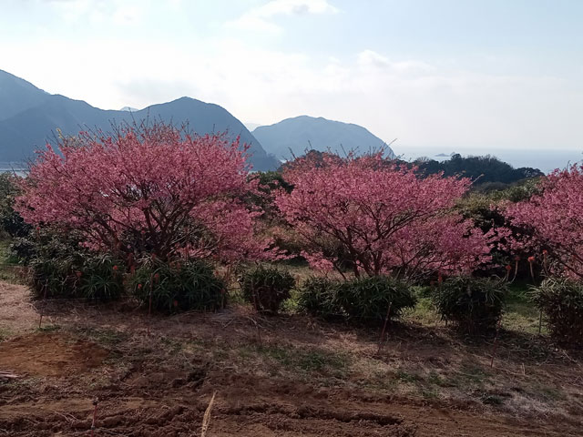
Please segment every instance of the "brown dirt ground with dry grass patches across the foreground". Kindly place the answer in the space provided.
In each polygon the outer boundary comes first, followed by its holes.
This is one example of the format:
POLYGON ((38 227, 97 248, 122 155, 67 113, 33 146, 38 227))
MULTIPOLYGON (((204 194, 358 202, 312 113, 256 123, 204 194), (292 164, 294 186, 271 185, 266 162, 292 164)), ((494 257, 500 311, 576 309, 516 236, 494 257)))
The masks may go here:
POLYGON ((378 332, 301 316, 148 318, 0 284, 0 436, 581 436, 581 357, 506 332, 378 332), (39 311, 44 314, 38 329, 39 311))

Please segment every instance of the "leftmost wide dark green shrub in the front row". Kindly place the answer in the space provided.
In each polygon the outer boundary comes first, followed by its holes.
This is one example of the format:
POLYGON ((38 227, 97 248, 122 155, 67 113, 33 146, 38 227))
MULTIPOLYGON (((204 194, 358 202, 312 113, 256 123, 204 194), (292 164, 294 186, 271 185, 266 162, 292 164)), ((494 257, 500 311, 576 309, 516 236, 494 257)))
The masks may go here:
POLYGON ((36 256, 29 263, 31 288, 41 299, 115 300, 124 290, 122 265, 107 254, 82 251, 36 256))

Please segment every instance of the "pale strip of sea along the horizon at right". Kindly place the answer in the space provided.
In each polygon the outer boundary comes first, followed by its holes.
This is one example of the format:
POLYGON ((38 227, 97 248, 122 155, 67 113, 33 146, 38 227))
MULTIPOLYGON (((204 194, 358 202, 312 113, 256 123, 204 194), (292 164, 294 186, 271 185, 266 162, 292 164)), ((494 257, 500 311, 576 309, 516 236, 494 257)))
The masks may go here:
MULTIPOLYGON (((452 153, 451 150, 437 148, 408 148, 401 149, 394 145, 395 155, 405 160, 414 160, 415 158, 427 157, 438 161, 449 157, 437 157, 438 154, 452 153)), ((568 165, 581 162, 583 160, 583 147, 580 150, 573 149, 458 149, 453 151, 460 155, 466 156, 484 156, 490 155, 502 161, 507 162, 514 168, 531 167, 538 168, 544 173, 550 173, 555 168, 566 168, 568 165)))

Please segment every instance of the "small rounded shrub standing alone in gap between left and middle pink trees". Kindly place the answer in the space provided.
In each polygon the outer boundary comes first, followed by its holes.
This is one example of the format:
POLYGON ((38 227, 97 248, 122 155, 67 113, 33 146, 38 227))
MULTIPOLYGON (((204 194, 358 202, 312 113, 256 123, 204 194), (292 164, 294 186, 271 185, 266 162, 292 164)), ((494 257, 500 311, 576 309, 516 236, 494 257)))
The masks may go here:
POLYGON ((243 273, 240 287, 243 298, 251 302, 255 309, 268 314, 276 314, 283 300, 290 298, 290 290, 295 279, 288 271, 277 268, 258 267, 243 273))

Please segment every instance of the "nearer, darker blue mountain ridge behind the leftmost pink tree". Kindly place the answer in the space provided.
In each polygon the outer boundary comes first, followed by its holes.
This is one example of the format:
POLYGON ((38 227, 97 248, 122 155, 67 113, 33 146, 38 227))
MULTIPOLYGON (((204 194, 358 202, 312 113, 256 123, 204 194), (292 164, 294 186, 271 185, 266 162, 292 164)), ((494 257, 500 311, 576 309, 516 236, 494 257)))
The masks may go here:
POLYGON ((181 97, 172 102, 137 111, 103 110, 82 100, 50 95, 36 86, 0 70, 0 161, 22 161, 54 139, 56 129, 64 135, 79 130, 111 130, 112 123, 157 119, 175 126, 188 124, 191 132, 204 135, 227 132, 240 142, 251 145, 251 164, 257 170, 277 168, 279 162, 269 156, 261 143, 229 111, 218 105, 181 97))

